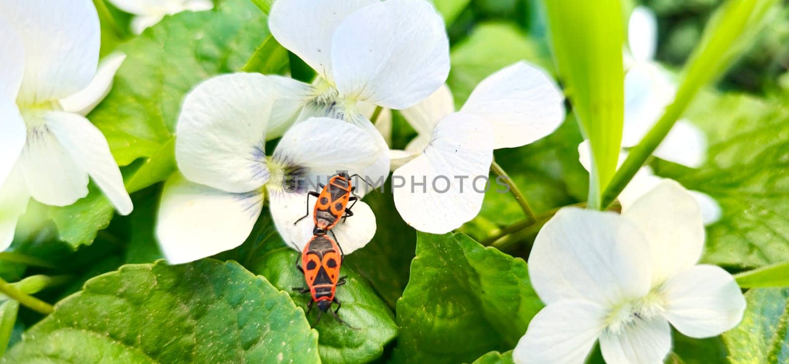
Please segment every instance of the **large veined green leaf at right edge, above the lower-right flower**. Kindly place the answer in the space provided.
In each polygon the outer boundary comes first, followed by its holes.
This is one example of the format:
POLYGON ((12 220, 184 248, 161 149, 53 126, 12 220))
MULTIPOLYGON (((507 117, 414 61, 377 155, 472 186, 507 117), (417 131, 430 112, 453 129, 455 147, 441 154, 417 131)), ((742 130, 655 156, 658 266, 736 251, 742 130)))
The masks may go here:
POLYGON ((686 113, 709 138, 704 165, 653 163, 655 172, 720 203, 704 262, 752 269, 789 260, 789 110, 747 95, 703 94, 686 113))

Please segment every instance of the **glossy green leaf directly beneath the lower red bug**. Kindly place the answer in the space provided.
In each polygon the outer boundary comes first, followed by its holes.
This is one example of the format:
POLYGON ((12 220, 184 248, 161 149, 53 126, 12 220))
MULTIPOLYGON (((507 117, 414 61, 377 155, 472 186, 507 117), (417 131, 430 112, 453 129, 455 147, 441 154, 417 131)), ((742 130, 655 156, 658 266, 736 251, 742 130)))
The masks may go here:
MULTIPOLYGON (((293 291, 305 285, 304 275, 296 269, 301 254, 283 246, 264 254, 252 272, 266 277, 271 284, 290 292, 291 298, 304 310, 312 297, 293 291)), ((348 283, 338 286, 336 297, 342 306, 338 316, 350 327, 342 325, 330 314, 323 314, 316 324, 317 307, 312 307, 308 320, 320 332, 318 351, 323 362, 369 362, 383 354, 383 346, 397 336, 394 314, 367 282, 353 270, 342 267, 348 283)), ((334 307, 332 308, 334 309, 334 307)))

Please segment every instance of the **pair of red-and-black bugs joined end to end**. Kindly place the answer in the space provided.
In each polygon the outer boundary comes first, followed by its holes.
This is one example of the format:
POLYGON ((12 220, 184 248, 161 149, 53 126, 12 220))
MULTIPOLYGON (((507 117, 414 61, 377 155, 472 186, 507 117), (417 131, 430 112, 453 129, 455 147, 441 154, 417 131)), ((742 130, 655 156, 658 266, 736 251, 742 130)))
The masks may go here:
MULTIPOLYGON (((346 283, 345 277, 339 277, 340 266, 345 259, 345 254, 331 228, 334 228, 340 219, 345 221, 347 217, 353 216, 350 209, 359 198, 353 195, 356 188, 351 185, 351 177, 347 173, 337 173, 331 176, 328 184, 318 185, 322 188, 320 193, 310 191, 307 196, 307 214, 294 222, 295 225, 298 221, 309 216, 309 196, 316 197, 315 206, 312 208, 312 217, 315 222, 315 228, 312 228, 312 239, 305 244, 304 250, 301 251, 301 266, 298 261, 296 262, 296 267, 301 273, 304 273, 307 288, 298 287, 294 288, 294 291, 312 295, 312 301, 307 306, 307 313, 312 310, 312 304, 318 303, 318 308, 322 312, 329 312, 337 321, 345 325, 348 324, 337 316, 337 311, 340 310, 342 304, 335 297, 337 286, 346 283), (350 202, 353 203, 348 206, 350 202), (334 239, 328 236, 329 232, 335 236, 334 239), (331 303, 337 303, 336 310, 329 310, 331 303)), ((320 314, 319 312, 318 321, 320 321, 320 314)))

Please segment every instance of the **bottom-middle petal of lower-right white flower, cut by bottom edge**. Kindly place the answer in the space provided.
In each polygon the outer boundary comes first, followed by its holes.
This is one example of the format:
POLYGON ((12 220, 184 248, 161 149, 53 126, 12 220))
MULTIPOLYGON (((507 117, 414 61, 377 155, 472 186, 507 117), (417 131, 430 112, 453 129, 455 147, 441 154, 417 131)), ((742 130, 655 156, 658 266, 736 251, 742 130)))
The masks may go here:
POLYGON ((600 351, 608 364, 653 364, 663 362, 671 351, 671 327, 664 318, 636 318, 621 332, 605 330, 600 351))

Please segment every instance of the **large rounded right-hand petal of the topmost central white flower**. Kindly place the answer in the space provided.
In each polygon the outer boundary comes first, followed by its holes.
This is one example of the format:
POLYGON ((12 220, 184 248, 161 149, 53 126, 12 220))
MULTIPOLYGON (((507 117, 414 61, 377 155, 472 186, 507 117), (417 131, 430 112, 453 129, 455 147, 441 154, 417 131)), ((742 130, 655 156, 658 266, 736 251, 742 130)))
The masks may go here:
POLYGON ((409 108, 449 75, 443 19, 429 2, 376 2, 337 26, 331 63, 340 97, 394 110, 409 108))

